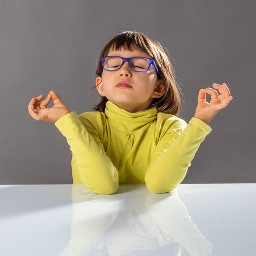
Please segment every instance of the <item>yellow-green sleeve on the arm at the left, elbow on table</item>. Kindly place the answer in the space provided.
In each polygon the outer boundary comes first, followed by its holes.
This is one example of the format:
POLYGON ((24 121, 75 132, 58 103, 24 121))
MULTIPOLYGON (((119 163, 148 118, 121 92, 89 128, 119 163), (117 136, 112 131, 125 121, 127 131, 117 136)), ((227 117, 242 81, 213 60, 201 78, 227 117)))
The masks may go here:
POLYGON ((82 182, 94 193, 113 194, 118 188, 119 173, 100 139, 89 134, 76 112, 59 118, 55 126, 70 145, 82 182))

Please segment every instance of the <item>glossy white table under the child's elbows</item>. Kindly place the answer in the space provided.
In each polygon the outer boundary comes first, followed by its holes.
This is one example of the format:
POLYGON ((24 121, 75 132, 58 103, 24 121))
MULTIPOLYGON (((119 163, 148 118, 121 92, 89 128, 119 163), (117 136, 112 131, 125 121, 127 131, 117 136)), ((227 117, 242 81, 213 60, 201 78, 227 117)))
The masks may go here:
POLYGON ((1 256, 256 256, 256 184, 0 185, 1 256))

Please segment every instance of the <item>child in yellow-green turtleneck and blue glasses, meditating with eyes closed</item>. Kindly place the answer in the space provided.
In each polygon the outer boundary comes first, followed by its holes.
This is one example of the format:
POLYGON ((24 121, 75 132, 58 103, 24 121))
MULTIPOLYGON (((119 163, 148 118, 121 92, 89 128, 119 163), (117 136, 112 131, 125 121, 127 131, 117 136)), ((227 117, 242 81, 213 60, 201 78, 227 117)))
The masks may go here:
POLYGON ((101 98, 95 111, 70 112, 53 90, 45 100, 41 94, 28 104, 35 120, 55 123, 66 137, 73 184, 98 194, 113 194, 124 183, 146 184, 152 193, 171 192, 211 132, 210 121, 232 99, 227 85, 213 84, 220 95, 210 87, 199 90, 195 115, 187 124, 176 116, 179 90, 162 46, 130 30, 103 48, 96 74, 101 98), (47 108, 50 100, 54 106, 47 108))

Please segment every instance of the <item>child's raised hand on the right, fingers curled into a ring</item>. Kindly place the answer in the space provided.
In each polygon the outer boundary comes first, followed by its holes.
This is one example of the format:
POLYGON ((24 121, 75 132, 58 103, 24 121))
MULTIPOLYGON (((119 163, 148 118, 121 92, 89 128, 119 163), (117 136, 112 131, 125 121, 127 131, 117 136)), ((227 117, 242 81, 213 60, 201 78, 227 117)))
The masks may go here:
POLYGON ((213 87, 220 92, 208 87, 201 89, 198 95, 198 105, 194 117, 197 117, 209 125, 213 117, 223 108, 226 108, 233 99, 226 84, 213 84, 213 87), (206 94, 211 95, 211 101, 206 101, 206 94), (230 100, 231 99, 231 100, 230 100))

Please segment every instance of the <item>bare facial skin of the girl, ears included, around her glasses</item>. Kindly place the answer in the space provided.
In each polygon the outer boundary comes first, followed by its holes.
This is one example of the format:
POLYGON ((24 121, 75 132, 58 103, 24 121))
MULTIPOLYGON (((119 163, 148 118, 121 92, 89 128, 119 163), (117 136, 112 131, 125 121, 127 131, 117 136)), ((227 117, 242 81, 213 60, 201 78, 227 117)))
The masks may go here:
MULTIPOLYGON (((120 57, 150 57, 139 50, 110 51, 107 56, 120 57)), ((148 109, 154 98, 159 98, 165 93, 162 80, 157 80, 157 74, 153 65, 146 72, 131 71, 126 61, 117 71, 103 69, 102 77, 96 78, 97 90, 101 96, 105 96, 118 107, 128 112, 135 113, 148 109), (102 79, 102 82, 100 83, 102 79), (127 81, 132 87, 116 87, 121 80, 127 81)))

